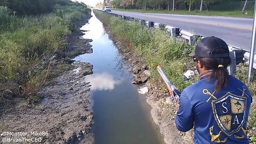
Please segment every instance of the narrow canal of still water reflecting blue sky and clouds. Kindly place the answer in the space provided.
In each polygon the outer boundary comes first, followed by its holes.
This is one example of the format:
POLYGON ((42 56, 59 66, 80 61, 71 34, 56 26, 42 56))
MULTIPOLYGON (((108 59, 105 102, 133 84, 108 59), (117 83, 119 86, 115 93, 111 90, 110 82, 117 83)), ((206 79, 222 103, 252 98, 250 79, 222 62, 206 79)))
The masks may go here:
POLYGON ((102 23, 92 15, 81 29, 86 30, 83 38, 93 39, 93 53, 79 55, 75 60, 93 64, 93 74, 85 81, 92 85, 94 143, 164 143, 145 96, 132 84, 131 68, 122 60, 102 23))

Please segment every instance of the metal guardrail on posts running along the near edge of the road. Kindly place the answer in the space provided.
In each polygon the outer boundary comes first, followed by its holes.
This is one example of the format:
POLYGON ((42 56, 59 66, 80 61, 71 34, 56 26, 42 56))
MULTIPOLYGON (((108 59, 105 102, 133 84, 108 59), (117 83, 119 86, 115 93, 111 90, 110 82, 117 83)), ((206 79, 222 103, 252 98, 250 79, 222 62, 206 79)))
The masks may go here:
MULTIPOLYGON (((108 12, 106 12, 106 13, 108 13, 108 12)), ((141 20, 141 19, 133 18, 133 17, 128 17, 127 18, 127 16, 125 16, 125 15, 116 14, 116 13, 113 13, 113 12, 111 12, 109 14, 114 15, 115 17, 122 17, 124 20, 138 21, 138 22, 141 23, 141 25, 147 26, 148 29, 150 29, 152 27, 160 28, 160 25, 165 25, 164 23, 153 22, 154 25, 153 26, 152 25, 149 26, 148 23, 150 23, 151 21, 141 20)), ((170 25, 165 25, 165 29, 170 31, 171 36, 180 36, 180 37, 182 37, 184 39, 187 39, 188 40, 188 44, 190 44, 190 45, 194 45, 195 44, 196 37, 202 37, 202 38, 205 37, 203 35, 197 35, 197 34, 191 32, 191 31, 187 31, 187 30, 184 30, 184 29, 180 29, 180 28, 177 28, 177 27, 170 26, 170 25)), ((237 50, 242 50, 244 52, 244 62, 248 62, 249 61, 250 51, 243 50, 243 49, 241 49, 239 47, 236 47, 236 46, 233 46, 233 45, 230 45, 230 44, 228 44, 228 47, 229 47, 229 51, 230 52, 234 52, 234 51, 237 51, 237 50)), ((233 71, 233 69, 235 69, 235 68, 236 68, 236 66, 230 66, 230 70, 229 70, 230 74, 232 74, 231 71, 233 71)), ((253 68, 256 69, 256 54, 254 54, 253 68)))

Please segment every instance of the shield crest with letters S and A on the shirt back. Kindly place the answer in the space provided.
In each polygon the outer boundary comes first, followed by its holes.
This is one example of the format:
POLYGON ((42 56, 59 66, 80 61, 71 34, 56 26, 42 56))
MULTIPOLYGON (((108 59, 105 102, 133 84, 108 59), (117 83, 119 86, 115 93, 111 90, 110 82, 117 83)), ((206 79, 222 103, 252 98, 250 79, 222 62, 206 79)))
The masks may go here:
POLYGON ((227 135, 238 132, 245 122, 247 98, 227 93, 212 100, 215 121, 227 135))

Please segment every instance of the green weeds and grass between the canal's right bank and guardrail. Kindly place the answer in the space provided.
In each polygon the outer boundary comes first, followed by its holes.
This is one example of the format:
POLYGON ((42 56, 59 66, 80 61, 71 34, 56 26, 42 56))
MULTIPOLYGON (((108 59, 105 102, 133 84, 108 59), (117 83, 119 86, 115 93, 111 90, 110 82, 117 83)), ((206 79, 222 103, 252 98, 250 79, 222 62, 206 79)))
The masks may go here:
MULTIPOLYGON (((188 58, 188 53, 193 51, 195 46, 190 46, 182 41, 175 41, 165 30, 145 29, 139 23, 134 21, 124 21, 120 18, 113 17, 106 13, 94 10, 94 13, 110 30, 112 36, 117 37, 125 46, 129 46, 138 57, 143 57, 151 70, 151 81, 158 83, 162 80, 156 67, 161 65, 179 90, 185 89, 188 85, 197 80, 196 77, 190 81, 183 81, 183 73, 186 70, 194 70, 194 62, 188 58)), ((235 77, 244 82, 250 89, 252 97, 256 93, 256 74, 254 73, 253 82, 247 82, 247 65, 241 63, 237 66, 235 77)), ((248 121, 250 132, 250 142, 256 142, 256 106, 252 105, 248 121)))

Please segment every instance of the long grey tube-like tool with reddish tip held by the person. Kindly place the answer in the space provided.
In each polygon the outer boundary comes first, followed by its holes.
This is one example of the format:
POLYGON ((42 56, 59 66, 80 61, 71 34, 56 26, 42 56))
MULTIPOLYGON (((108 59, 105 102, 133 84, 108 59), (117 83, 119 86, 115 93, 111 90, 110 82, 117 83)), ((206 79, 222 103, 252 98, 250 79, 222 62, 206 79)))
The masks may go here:
POLYGON ((175 87, 175 85, 172 84, 170 79, 164 73, 164 70, 162 69, 161 66, 157 66, 157 71, 161 75, 161 77, 163 78, 163 80, 164 80, 164 82, 167 86, 167 89, 169 90, 169 93, 173 97, 175 103, 179 103, 179 98, 180 98, 181 92, 178 91, 177 88, 175 87))

